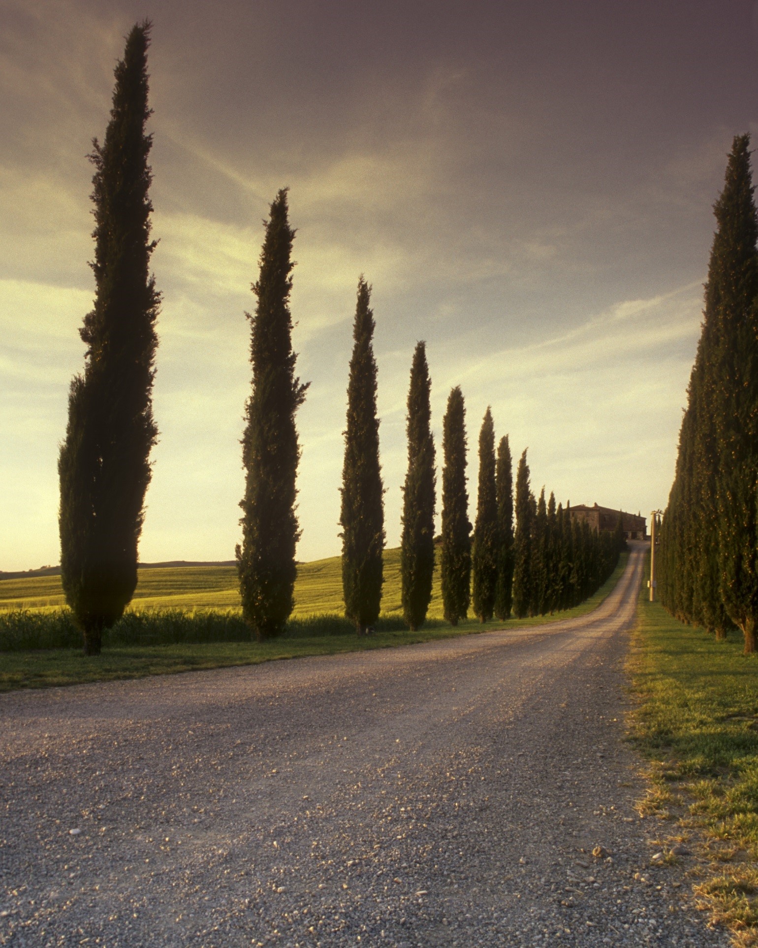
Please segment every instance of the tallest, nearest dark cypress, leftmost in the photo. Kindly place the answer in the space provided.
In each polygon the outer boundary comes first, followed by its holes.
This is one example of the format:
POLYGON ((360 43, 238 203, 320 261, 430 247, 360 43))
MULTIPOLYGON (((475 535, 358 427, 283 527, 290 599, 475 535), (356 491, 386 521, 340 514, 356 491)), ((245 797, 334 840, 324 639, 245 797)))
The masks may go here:
POLYGON ((84 374, 71 383, 58 470, 63 592, 99 654, 102 631, 136 588, 137 545, 151 479, 155 319, 160 296, 150 274, 153 137, 145 134, 150 24, 129 33, 116 66, 111 119, 95 139, 95 305, 80 330, 84 374))

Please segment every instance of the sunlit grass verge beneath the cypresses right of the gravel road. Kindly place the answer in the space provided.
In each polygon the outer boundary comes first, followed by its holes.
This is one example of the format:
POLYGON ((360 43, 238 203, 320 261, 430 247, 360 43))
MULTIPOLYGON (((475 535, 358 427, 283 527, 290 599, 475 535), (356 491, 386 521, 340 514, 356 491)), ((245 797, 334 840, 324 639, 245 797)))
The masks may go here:
MULTIPOLYGON (((632 735, 649 761, 642 811, 661 819, 665 858, 695 854, 695 895, 739 945, 758 945, 758 655, 739 632, 716 642, 641 591, 629 659, 632 735)), ((683 858, 687 858, 686 856, 683 858)))

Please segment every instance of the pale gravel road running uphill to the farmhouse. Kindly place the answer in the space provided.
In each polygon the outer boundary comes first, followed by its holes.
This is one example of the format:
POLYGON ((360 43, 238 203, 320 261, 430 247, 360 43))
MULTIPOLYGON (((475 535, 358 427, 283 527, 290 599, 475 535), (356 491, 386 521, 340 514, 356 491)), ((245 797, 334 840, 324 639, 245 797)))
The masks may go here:
POLYGON ((0 696, 0 944, 728 944, 632 809, 641 568, 549 626, 0 696))

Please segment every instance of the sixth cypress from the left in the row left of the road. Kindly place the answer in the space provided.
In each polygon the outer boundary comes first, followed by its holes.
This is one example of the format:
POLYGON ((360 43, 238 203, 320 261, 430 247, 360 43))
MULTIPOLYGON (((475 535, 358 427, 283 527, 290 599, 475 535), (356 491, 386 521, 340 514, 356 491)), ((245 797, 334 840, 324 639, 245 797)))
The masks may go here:
POLYGON ((472 556, 474 614, 479 622, 489 622, 495 610, 497 553, 500 545, 495 466, 495 427, 488 406, 479 431, 477 520, 472 556))

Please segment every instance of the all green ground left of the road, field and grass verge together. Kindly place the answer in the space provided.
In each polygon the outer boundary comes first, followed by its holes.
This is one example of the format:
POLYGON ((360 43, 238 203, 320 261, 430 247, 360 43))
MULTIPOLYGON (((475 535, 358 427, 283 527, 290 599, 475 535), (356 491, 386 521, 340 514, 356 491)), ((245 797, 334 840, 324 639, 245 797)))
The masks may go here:
MULTIPOLYGON (((385 595, 389 608, 372 636, 356 636, 344 618, 337 557, 301 567, 296 591, 298 611, 280 638, 271 642, 250 641, 238 593, 231 585, 236 578, 234 567, 149 569, 140 574, 142 595, 133 604, 133 611, 108 631, 102 654, 96 657, 81 653, 81 632, 72 623, 70 612, 62 608, 57 576, 3 580, 0 692, 226 665, 255 665, 304 655, 411 645, 503 628, 504 623, 497 620, 481 625, 474 617, 460 622, 455 629, 442 621, 437 576, 430 621, 423 629, 410 632, 400 613, 400 554, 397 550, 387 553, 385 595), (146 592, 152 594, 145 595, 146 592)), ((627 556, 622 554, 605 585, 581 605, 554 615, 511 619, 509 624, 539 626, 595 609, 616 585, 627 556)))

